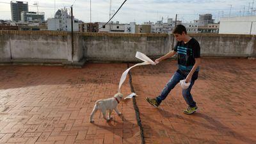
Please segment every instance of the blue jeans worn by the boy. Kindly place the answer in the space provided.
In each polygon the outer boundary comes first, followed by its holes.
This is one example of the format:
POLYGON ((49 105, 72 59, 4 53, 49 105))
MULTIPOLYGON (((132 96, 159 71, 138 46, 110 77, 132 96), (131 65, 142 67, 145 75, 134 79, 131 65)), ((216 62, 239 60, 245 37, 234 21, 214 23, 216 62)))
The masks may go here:
MULTIPOLYGON (((180 80, 182 79, 186 79, 186 76, 179 74, 179 72, 175 72, 175 74, 173 74, 172 78, 170 79, 170 81, 168 81, 168 83, 166 84, 166 86, 164 86, 163 91, 161 92, 161 95, 159 95, 158 97, 156 97, 156 100, 158 102, 158 104, 160 104, 162 102, 162 100, 164 100, 167 95, 171 92, 171 90, 176 86, 176 84, 178 84, 180 82, 180 80)), ((195 80, 191 80, 191 84, 189 85, 189 88, 183 90, 182 89, 182 95, 186 101, 186 103, 190 106, 190 107, 195 107, 196 106, 196 102, 193 100, 193 97, 190 93, 191 88, 193 86, 193 84, 195 83, 195 80)))

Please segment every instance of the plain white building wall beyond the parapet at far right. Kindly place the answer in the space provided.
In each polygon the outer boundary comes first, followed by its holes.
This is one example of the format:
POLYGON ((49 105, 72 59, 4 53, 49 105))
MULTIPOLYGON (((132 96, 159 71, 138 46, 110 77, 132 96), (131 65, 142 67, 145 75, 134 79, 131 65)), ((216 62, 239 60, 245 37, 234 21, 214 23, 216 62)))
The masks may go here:
POLYGON ((220 19, 219 33, 256 35, 256 16, 223 17, 220 19))

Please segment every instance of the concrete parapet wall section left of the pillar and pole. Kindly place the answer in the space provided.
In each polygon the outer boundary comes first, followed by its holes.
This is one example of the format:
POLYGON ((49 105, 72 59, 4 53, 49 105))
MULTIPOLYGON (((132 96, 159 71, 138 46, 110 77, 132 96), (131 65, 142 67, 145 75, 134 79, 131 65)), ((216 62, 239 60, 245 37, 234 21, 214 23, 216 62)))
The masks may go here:
MULTIPOLYGON (((79 35, 74 35, 74 41, 79 35)), ((0 31, 0 62, 68 63, 79 61, 71 36, 59 31, 0 31), (73 58, 73 59, 72 59, 73 58)), ((81 53, 81 52, 80 52, 81 53)))

